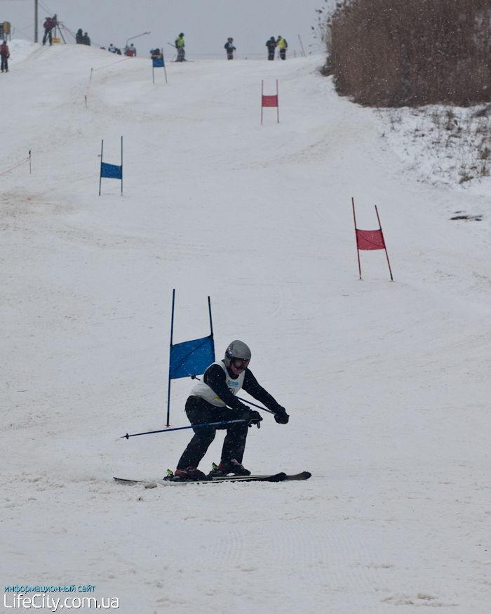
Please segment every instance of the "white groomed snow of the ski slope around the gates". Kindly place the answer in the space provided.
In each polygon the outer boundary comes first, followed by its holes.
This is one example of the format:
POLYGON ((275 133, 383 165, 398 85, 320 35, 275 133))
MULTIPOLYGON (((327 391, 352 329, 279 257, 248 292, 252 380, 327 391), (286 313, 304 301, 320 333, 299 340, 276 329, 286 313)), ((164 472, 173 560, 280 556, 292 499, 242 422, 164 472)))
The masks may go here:
POLYGON ((490 179, 417 181, 321 56, 152 84, 148 59, 20 51, 0 77, 0 172, 32 150, 1 176, 4 586, 91 584, 54 596, 124 614, 489 613, 490 179), (99 197, 121 135, 123 196, 99 197), (358 279, 351 197, 358 228, 377 204, 394 282, 384 252, 358 279), (121 438, 165 425, 173 288, 174 342, 208 334, 209 295, 217 358, 245 341, 291 416, 250 429, 245 466, 309 481, 114 483, 162 478, 190 438, 121 438))

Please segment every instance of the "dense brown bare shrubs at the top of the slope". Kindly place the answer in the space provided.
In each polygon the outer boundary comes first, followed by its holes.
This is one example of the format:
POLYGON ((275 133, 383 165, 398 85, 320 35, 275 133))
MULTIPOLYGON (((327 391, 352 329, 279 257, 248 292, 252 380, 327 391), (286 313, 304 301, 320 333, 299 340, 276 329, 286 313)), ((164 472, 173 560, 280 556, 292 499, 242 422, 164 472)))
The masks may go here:
MULTIPOLYGON (((491 0, 346 0, 321 14, 323 74, 379 107, 491 99, 491 0)), ((446 118, 450 129, 452 117, 446 118)))

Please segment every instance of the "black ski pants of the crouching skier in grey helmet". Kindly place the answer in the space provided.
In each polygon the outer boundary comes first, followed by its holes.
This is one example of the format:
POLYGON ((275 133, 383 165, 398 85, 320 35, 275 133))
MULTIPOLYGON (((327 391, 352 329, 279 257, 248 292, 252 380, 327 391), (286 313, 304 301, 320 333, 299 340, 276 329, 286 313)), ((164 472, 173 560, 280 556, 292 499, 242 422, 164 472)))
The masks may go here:
MULTIPOLYGON (((188 397, 186 401, 186 414, 191 424, 208 424, 208 422, 224 422, 225 420, 240 418, 235 410, 231 410, 229 407, 215 407, 203 398, 194 395, 188 397)), ((223 442, 221 461, 229 462, 236 459, 239 463, 242 462, 248 431, 245 422, 223 424, 222 426, 203 426, 193 430, 194 437, 180 457, 177 469, 197 467, 203 456, 206 455, 210 443, 215 439, 217 430, 227 431, 223 442)))

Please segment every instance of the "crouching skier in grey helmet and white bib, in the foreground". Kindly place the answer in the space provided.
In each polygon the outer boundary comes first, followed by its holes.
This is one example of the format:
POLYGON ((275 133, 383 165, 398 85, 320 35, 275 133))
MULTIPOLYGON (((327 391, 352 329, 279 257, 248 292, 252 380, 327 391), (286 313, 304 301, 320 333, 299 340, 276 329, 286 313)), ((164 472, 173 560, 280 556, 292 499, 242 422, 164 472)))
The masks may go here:
POLYGON ((227 435, 223 443, 220 465, 209 475, 227 476, 233 473, 236 476, 250 476, 250 471, 242 465, 245 439, 248 426, 257 424, 259 428, 262 417, 259 412, 251 410, 235 398, 241 388, 273 411, 278 424, 287 424, 289 416, 285 408, 278 405, 276 400, 257 383, 253 373, 248 370, 249 361, 248 346, 243 341, 232 341, 225 352, 225 358, 220 362, 213 362, 213 365, 206 369, 203 380, 192 388, 191 396, 186 401, 186 414, 191 424, 227 420, 244 422, 194 429, 194 437, 177 463, 174 479, 188 481, 206 477, 198 469, 198 465, 206 455, 210 443, 215 439, 218 429, 227 430, 227 435))

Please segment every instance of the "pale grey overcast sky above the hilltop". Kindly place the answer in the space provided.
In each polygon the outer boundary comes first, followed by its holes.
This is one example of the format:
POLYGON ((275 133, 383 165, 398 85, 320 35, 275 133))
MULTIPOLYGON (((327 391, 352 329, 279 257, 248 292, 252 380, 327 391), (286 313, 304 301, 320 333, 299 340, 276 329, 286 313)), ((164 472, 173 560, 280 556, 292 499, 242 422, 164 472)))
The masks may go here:
MULTIPOLYGON (((133 41, 140 55, 173 43, 180 32, 188 54, 223 55, 224 43, 233 37, 237 51, 252 58, 278 34, 289 51, 300 53, 300 34, 306 53, 320 53, 311 27, 317 25, 316 8, 325 6, 325 0, 39 0, 39 39, 46 16, 57 13, 70 30, 88 32, 97 46, 123 47, 130 37, 152 32, 133 41)), ((0 21, 11 22, 12 38, 34 40, 34 0, 0 0, 0 21)))

